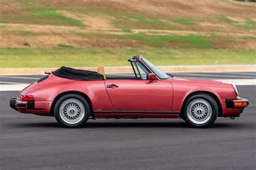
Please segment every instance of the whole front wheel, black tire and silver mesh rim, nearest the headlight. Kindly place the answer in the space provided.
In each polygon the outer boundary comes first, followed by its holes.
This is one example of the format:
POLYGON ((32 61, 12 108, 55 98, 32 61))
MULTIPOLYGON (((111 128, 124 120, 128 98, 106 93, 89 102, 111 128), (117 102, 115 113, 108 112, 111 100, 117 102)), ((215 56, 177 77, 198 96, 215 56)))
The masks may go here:
POLYGON ((192 128, 207 128, 216 121, 218 113, 218 104, 214 98, 198 93, 188 98, 182 117, 192 128))

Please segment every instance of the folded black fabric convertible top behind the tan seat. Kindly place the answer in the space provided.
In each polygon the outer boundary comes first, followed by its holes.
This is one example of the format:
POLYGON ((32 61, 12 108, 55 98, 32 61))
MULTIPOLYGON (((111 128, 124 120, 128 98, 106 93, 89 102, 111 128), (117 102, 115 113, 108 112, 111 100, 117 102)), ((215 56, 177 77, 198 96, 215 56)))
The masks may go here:
POLYGON ((75 80, 103 80, 104 79, 104 76, 97 72, 75 69, 75 68, 70 68, 65 66, 62 66, 51 73, 53 75, 62 77, 64 79, 75 79, 75 80))

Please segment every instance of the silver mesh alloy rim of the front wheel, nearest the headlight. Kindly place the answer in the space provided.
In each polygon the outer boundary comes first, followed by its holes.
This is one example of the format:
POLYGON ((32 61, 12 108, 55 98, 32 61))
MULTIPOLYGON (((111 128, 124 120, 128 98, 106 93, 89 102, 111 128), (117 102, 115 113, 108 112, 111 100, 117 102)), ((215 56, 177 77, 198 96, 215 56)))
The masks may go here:
POLYGON ((187 117, 193 123, 204 124, 209 121, 211 116, 211 104, 203 99, 195 99, 187 106, 187 117))

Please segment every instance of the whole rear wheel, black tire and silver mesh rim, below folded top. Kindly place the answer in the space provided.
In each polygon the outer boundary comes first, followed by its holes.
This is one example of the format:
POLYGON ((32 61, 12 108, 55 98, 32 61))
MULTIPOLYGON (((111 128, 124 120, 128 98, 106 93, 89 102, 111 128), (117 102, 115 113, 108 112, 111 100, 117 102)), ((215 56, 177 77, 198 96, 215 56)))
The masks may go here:
POLYGON ((90 109, 89 103, 86 101, 86 99, 83 96, 75 93, 69 93, 58 98, 57 102, 55 103, 53 112, 57 122, 60 125, 64 126, 65 128, 80 128, 84 126, 87 120, 89 119, 91 109, 90 109), (75 105, 75 109, 71 108, 73 107, 70 105, 70 103, 72 104, 72 101, 73 103, 77 104, 75 105), (67 104, 65 105, 65 103, 67 104), (68 112, 68 114, 74 114, 74 113, 75 114, 71 116, 65 116, 64 114, 61 114, 60 113, 61 106, 62 108, 65 108, 66 106, 65 111, 63 111, 63 113, 65 112, 66 114, 68 112), (84 114, 81 114, 81 113, 84 113, 84 114), (72 120, 72 118, 74 119, 72 120), (75 121, 76 119, 77 121, 75 121), (71 121, 74 121, 74 122, 71 122, 71 121))

